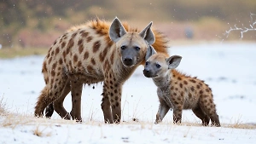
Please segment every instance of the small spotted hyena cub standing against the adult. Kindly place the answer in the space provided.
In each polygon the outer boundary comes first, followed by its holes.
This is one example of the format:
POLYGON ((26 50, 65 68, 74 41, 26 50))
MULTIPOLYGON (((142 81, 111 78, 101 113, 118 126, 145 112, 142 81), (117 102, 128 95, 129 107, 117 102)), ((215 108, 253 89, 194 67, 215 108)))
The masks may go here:
POLYGON ((160 123, 172 108, 174 124, 181 123, 183 109, 192 109, 195 115, 201 118, 203 125, 207 126, 211 118, 213 126, 220 126, 212 99, 212 89, 200 79, 191 78, 175 70, 182 59, 181 56, 166 58, 163 54, 156 54, 150 46, 145 59, 147 61, 143 74, 147 78, 153 78, 158 87, 160 107, 155 124, 160 123))

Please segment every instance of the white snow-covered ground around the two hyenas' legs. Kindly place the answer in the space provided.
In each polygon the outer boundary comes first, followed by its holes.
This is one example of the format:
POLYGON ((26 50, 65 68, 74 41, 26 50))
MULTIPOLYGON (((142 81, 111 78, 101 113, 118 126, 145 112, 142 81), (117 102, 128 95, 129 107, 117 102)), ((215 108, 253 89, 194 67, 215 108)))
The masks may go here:
MULTIPOLYGON (((0 143, 255 143, 255 48, 256 43, 205 43, 170 49, 171 55, 183 56, 179 71, 212 88, 221 128, 202 127, 190 110, 183 111, 182 125, 172 124, 172 111, 154 124, 159 101, 152 80, 143 76, 143 66, 124 85, 121 124, 103 123, 102 84, 84 87, 83 124, 61 120, 56 113, 51 120, 33 118, 44 88, 44 56, 0 60, 0 100, 14 113, 0 116, 0 143)), ((70 111, 71 96, 64 106, 70 111)))

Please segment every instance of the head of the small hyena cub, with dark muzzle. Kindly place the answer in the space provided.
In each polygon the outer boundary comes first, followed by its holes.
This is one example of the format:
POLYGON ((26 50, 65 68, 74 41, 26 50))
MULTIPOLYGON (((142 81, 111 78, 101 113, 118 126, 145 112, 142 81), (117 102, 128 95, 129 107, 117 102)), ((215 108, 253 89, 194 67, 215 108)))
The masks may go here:
POLYGON ((164 77, 168 70, 176 68, 182 57, 179 55, 172 55, 166 58, 163 54, 157 54, 154 48, 150 45, 145 56, 145 67, 143 74, 147 78, 164 77))

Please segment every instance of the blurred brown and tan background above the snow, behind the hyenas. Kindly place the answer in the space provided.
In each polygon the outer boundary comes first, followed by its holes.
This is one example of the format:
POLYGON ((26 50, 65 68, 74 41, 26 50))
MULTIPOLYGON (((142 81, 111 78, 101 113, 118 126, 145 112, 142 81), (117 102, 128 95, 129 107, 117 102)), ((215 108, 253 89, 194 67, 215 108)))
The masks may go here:
POLYGON ((256 41, 255 31, 225 35, 235 25, 250 28, 252 14, 255 0, 1 0, 0 48, 49 48, 70 26, 96 16, 140 29, 153 21, 171 42, 256 41))

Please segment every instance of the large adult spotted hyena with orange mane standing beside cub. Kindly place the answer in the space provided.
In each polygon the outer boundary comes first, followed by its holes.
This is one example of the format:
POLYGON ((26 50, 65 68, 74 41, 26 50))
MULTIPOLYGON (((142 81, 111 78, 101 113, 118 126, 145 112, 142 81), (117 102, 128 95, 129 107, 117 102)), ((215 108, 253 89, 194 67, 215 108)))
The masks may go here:
MULTIPOLYGON (((122 25, 118 18, 111 24, 92 20, 74 26, 55 40, 43 63, 45 87, 35 107, 35 116, 43 116, 45 107, 53 102, 61 118, 81 121, 83 84, 103 82, 102 111, 107 123, 119 123, 122 86, 137 66, 143 64, 148 45, 166 53, 167 41, 149 23, 142 32, 122 25), (72 111, 63 107, 71 91, 72 111)), ((49 105, 51 106, 51 105, 49 105)), ((53 109, 47 109, 50 117, 53 109)))

